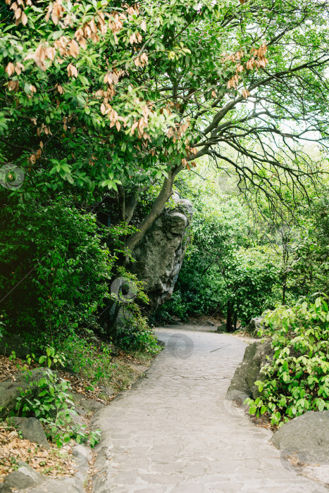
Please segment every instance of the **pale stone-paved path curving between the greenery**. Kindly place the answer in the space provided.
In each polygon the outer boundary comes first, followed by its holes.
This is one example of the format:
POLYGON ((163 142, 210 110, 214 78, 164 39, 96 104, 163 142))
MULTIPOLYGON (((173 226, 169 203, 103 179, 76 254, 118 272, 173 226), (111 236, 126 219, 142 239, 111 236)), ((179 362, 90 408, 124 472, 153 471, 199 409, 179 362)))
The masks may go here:
POLYGON ((328 493, 297 475, 240 408, 224 401, 246 344, 159 329, 147 377, 100 411, 95 493, 328 493))

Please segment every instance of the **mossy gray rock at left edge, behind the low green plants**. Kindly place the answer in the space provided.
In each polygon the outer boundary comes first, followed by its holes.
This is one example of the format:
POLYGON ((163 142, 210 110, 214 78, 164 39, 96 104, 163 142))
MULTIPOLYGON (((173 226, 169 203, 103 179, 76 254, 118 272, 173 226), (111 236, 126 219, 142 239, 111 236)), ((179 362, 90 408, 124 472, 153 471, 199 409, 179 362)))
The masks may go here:
MULTIPOLYGON (((24 373, 18 373, 15 375, 15 381, 12 378, 0 382, 0 418, 6 418, 11 411, 15 409, 17 403, 16 398, 20 396, 20 389, 26 390, 29 387, 30 382, 38 382, 44 373, 50 371, 46 368, 35 368, 31 370, 31 376, 26 380, 24 373)), ((40 389, 35 386, 32 387, 31 397, 37 397, 40 389)))

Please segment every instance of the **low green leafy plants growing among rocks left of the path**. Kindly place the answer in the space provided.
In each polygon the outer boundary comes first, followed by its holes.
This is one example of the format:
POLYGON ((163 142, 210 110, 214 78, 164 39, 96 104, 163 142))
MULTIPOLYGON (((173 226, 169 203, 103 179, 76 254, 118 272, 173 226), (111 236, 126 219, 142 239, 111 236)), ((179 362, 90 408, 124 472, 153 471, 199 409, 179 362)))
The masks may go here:
MULTIPOLYGON (((27 380, 31 373, 27 372, 27 380)), ((73 401, 70 400, 70 384, 57 377, 51 370, 45 370, 44 376, 37 382, 30 382, 25 391, 17 398, 16 410, 21 416, 34 416, 44 426, 46 437, 56 443, 58 448, 70 439, 77 443, 89 442, 94 447, 99 442, 99 430, 89 432, 87 426, 75 423, 73 401), (32 397, 33 387, 38 387, 37 397, 32 397)))

